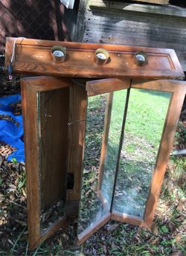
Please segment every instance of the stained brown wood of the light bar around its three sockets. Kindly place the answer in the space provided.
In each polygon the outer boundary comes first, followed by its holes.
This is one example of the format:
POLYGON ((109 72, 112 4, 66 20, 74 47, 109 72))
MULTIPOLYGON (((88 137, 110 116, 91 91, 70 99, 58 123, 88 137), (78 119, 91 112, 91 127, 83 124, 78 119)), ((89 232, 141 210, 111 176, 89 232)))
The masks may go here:
MULTIPOLYGON (((7 38, 5 59, 10 62, 15 39, 7 38)), ((59 77, 135 77, 135 78, 180 78, 184 77, 182 67, 172 49, 141 48, 124 45, 96 45, 77 42, 54 42, 35 39, 17 39, 13 70, 22 74, 46 74, 59 77), (67 48, 64 63, 55 63, 51 47, 62 45, 67 48), (106 65, 94 63, 94 51, 105 48, 109 51, 110 62, 106 65), (134 55, 145 51, 148 63, 137 66, 134 55)))

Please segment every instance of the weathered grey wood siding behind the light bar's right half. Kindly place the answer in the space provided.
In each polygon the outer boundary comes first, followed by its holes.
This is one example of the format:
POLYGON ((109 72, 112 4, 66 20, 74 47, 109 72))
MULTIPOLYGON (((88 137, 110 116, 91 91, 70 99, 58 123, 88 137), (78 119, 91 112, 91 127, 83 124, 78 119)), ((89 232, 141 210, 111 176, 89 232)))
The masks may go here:
POLYGON ((86 13, 83 42, 173 48, 186 71, 186 16, 183 15, 161 15, 158 10, 153 13, 153 7, 150 12, 92 7, 86 13))

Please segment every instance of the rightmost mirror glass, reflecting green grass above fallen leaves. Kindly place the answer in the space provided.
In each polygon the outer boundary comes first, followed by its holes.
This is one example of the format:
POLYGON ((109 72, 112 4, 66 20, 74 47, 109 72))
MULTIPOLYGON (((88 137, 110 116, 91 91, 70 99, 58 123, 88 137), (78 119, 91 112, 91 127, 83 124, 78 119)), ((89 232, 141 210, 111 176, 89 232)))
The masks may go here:
POLYGON ((131 89, 112 211, 143 218, 170 93, 131 89))

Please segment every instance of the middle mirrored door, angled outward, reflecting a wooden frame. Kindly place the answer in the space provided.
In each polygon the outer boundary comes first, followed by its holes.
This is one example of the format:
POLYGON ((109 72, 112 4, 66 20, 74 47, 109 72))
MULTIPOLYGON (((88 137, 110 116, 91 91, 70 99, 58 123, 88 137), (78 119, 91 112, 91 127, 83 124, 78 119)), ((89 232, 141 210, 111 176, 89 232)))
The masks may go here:
POLYGON ((110 220, 112 193, 118 145, 124 118, 126 89, 124 81, 116 80, 123 90, 112 92, 113 80, 88 86, 86 111, 86 139, 77 237, 83 243, 97 228, 110 220), (107 84, 104 84, 107 83, 107 84), (103 93, 104 87, 108 93, 103 93), (102 94, 99 94, 102 92, 102 94), (118 109, 118 106, 122 106, 118 109), (118 115, 116 113, 119 111, 118 115), (115 124, 117 125, 115 126, 115 124))

